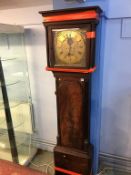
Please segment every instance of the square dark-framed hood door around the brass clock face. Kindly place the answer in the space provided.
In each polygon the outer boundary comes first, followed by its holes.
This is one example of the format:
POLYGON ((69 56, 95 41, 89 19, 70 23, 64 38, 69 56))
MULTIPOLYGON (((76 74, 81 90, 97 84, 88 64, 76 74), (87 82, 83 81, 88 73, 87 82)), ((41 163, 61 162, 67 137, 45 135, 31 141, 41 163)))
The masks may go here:
MULTIPOLYGON (((94 25, 95 27, 96 25, 94 25)), ((51 26, 48 28, 49 67, 90 68, 91 46, 94 39, 89 37, 94 28, 91 24, 51 26)), ((95 29, 94 29, 95 31, 95 29)))

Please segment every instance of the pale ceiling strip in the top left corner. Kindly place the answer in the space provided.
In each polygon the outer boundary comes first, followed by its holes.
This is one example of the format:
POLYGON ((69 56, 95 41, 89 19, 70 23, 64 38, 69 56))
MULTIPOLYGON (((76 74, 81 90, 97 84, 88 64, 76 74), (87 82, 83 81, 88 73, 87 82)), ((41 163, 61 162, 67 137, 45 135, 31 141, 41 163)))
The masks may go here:
POLYGON ((0 10, 52 4, 53 0, 0 0, 0 10))

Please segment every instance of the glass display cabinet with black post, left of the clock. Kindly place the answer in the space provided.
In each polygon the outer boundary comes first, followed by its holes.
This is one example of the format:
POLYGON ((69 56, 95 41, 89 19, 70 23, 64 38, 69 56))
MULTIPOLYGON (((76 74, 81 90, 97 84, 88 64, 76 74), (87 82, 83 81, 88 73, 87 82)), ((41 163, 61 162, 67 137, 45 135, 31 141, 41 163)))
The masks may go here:
POLYGON ((35 155, 24 29, 0 24, 0 159, 27 164, 35 155))

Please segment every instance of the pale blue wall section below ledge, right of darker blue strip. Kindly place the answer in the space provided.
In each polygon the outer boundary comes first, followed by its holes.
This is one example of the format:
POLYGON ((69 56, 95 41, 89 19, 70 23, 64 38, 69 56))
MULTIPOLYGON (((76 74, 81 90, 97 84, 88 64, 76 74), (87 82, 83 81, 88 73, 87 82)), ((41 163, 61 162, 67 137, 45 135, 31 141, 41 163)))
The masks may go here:
MULTIPOLYGON (((126 24, 131 30, 131 23, 126 24)), ((131 38, 128 37, 130 33, 121 19, 106 21, 101 152, 131 158, 131 38)))

